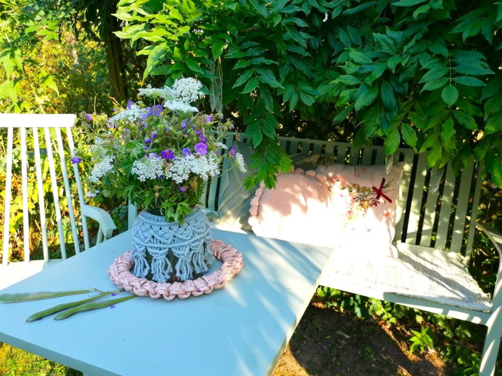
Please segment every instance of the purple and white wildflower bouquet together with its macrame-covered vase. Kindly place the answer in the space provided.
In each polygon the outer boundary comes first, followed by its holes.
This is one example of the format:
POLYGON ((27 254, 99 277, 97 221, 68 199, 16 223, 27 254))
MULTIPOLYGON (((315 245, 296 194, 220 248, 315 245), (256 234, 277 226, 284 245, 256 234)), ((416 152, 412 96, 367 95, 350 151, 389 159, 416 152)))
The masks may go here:
MULTIPOLYGON (((222 143, 233 129, 221 113, 203 114, 194 103, 202 84, 185 78, 172 87, 140 89, 110 118, 85 114, 95 132, 86 195, 128 200, 143 211, 133 226, 133 274, 157 282, 185 281, 207 272, 213 260, 204 213, 198 208, 208 179, 223 158, 245 171, 235 147, 222 143)), ((75 156, 72 162, 80 162, 75 156)))

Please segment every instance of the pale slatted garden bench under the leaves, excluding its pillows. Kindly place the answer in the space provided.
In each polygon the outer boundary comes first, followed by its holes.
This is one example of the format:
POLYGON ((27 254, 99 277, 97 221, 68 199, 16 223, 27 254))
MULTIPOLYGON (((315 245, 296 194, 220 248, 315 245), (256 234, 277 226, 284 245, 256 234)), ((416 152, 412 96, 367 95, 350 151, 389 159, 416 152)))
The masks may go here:
MULTIPOLYGON (((242 137, 244 135, 241 135, 242 137)), ((243 139, 246 141, 245 139, 243 139)), ((226 144, 230 146, 233 135, 226 144)), ((340 142, 279 137, 289 153, 332 155, 346 164, 384 164, 384 148, 352 150, 340 142)), ((458 176, 451 165, 444 171, 427 169, 427 155, 411 149, 398 149, 394 162, 404 161, 402 193, 397 213, 395 242, 400 259, 383 258, 380 264, 365 262, 354 252, 335 247, 334 257, 321 276, 321 285, 391 301, 487 327, 480 375, 494 374, 502 335, 502 268, 499 266, 491 298, 467 272, 475 227, 484 231, 499 255, 502 236, 476 223, 481 179, 474 162, 458 176), (444 252, 444 251, 448 252, 444 252), (355 254, 355 256, 354 256, 355 254)), ((203 204, 218 212, 224 200, 223 174, 207 187, 203 204)), ((130 211, 130 223, 135 211, 130 211)))

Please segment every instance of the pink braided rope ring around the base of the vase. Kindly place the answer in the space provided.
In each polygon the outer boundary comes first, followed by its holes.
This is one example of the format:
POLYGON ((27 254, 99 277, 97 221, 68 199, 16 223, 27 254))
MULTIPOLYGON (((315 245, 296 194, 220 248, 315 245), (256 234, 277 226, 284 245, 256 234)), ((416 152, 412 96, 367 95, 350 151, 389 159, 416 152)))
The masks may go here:
POLYGON ((242 268, 242 254, 235 248, 223 244, 220 240, 211 241, 211 251, 223 264, 211 274, 194 280, 174 283, 160 283, 146 278, 138 278, 131 273, 134 262, 131 252, 118 256, 108 269, 110 280, 119 288, 139 296, 150 296, 153 299, 163 297, 173 300, 176 296, 181 299, 190 295, 199 296, 209 294, 213 290, 222 288, 226 281, 232 279, 242 268))

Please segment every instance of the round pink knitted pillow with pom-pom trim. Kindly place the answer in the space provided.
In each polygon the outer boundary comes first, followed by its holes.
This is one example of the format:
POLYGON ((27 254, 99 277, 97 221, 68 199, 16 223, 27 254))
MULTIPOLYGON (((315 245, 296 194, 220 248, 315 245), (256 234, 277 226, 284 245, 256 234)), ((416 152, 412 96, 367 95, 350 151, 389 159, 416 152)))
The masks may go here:
MULTIPOLYGON (((275 189, 263 183, 251 201, 249 224, 259 236, 333 247, 332 219, 340 217, 325 175, 297 168, 277 176, 275 189)), ((342 230, 341 227, 338 227, 342 230)))

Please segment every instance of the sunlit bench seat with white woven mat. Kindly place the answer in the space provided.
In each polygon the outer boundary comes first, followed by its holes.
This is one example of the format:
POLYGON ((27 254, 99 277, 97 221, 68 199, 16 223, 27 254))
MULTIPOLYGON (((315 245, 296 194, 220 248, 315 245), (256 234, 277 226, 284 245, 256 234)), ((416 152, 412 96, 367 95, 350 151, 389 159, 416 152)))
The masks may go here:
POLYGON ((384 299, 395 293, 460 308, 489 312, 492 304, 456 252, 398 243, 399 259, 365 258, 336 247, 320 284, 384 299))

